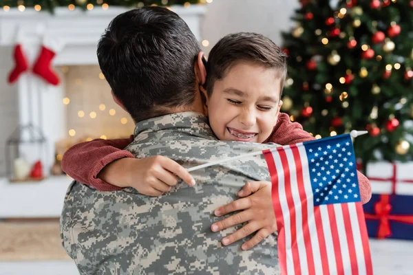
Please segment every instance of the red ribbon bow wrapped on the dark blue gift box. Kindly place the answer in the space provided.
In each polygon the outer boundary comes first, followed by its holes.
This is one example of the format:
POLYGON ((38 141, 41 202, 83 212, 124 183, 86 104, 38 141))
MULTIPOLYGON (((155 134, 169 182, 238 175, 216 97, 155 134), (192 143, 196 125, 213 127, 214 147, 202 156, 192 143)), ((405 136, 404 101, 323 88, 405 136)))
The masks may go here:
POLYGON ((366 219, 379 220, 379 230, 377 230, 377 238, 379 239, 391 236, 390 221, 399 221, 413 225, 413 215, 391 215, 390 210, 392 210, 390 195, 380 195, 380 200, 374 205, 376 214, 364 214, 366 219))

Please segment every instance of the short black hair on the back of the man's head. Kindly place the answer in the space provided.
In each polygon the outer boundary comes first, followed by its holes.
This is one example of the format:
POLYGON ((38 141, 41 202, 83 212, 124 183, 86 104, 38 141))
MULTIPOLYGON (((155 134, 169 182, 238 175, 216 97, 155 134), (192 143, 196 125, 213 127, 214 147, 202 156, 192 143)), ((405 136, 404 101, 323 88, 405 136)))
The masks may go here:
POLYGON ((178 14, 144 7, 113 19, 97 54, 115 96, 138 122, 193 103, 198 52, 198 41, 178 14))

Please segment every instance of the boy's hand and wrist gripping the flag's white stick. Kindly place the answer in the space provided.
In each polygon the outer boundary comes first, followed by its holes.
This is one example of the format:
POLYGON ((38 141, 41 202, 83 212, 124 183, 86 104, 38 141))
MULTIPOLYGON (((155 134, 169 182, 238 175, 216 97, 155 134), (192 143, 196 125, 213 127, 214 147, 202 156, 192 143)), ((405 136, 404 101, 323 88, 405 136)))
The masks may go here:
POLYGON ((178 183, 178 177, 189 186, 195 184, 195 179, 187 169, 161 155, 145 159, 118 159, 105 166, 98 177, 115 186, 133 187, 148 196, 160 196, 169 192, 171 186, 178 183))

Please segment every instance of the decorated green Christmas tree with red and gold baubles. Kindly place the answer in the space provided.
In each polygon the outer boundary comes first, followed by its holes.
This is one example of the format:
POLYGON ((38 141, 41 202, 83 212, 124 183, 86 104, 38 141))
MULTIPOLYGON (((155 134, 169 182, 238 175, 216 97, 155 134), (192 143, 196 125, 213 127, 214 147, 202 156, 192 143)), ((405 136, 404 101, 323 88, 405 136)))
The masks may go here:
POLYGON ((354 140, 363 165, 413 155, 413 1, 302 0, 284 33, 283 111, 317 138, 354 140))

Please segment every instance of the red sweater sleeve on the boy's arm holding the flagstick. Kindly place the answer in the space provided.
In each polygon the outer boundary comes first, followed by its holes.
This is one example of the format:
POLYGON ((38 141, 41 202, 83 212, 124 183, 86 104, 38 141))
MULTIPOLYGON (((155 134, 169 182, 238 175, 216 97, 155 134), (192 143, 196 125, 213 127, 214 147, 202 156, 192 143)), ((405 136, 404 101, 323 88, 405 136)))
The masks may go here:
POLYGON ((122 150, 134 140, 131 135, 118 140, 92 140, 69 148, 62 159, 62 169, 70 177, 100 191, 113 191, 122 188, 99 179, 98 173, 107 164, 123 157, 134 157, 129 151, 122 150))

